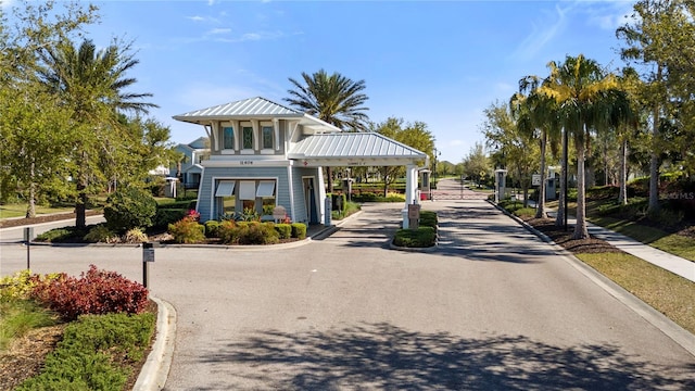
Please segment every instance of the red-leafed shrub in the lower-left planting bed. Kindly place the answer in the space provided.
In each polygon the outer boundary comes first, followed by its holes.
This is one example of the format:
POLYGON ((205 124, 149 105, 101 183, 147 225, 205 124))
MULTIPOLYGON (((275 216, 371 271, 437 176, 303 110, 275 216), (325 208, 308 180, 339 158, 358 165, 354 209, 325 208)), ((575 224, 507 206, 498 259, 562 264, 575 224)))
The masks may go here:
POLYGON ((59 313, 66 320, 84 314, 140 314, 148 305, 148 289, 115 272, 90 265, 79 278, 61 274, 39 281, 31 297, 59 313))

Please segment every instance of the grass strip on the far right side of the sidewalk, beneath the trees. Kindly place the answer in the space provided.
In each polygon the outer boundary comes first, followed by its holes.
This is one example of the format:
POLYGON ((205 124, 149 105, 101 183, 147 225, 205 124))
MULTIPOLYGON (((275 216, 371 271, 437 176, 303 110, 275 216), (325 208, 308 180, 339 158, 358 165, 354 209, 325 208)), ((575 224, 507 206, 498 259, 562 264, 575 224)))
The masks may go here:
POLYGON ((658 228, 647 227, 629 220, 611 217, 590 217, 593 224, 620 232, 627 237, 649 244, 655 249, 695 262, 695 239, 678 234, 668 234, 658 228))

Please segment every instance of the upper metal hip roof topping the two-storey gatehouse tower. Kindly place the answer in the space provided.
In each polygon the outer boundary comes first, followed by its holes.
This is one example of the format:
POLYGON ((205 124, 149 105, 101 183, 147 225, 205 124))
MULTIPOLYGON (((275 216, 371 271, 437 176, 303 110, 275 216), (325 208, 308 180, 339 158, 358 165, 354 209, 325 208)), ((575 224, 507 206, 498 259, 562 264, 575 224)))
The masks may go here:
POLYGON ((283 106, 262 97, 218 104, 207 109, 174 115, 174 119, 198 125, 224 119, 298 119, 300 124, 317 131, 342 131, 340 128, 301 111, 283 106))

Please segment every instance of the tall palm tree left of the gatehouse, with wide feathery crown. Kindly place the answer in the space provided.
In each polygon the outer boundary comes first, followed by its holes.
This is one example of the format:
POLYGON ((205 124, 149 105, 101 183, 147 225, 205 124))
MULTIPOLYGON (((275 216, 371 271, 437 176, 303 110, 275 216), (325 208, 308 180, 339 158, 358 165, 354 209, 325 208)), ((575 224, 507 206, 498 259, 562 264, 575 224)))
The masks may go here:
POLYGON ((45 64, 40 77, 49 90, 58 94, 64 105, 73 111, 73 122, 80 130, 80 141, 75 146, 77 164, 77 201, 75 225, 86 226, 88 188, 99 176, 96 159, 104 146, 117 144, 125 133, 118 131, 121 112, 147 113, 154 103, 142 102, 151 93, 125 91, 137 83, 126 73, 139 63, 130 52, 129 43, 114 41, 102 50, 84 40, 79 47, 63 40, 41 53, 45 64), (112 141, 112 142, 110 142, 112 141))

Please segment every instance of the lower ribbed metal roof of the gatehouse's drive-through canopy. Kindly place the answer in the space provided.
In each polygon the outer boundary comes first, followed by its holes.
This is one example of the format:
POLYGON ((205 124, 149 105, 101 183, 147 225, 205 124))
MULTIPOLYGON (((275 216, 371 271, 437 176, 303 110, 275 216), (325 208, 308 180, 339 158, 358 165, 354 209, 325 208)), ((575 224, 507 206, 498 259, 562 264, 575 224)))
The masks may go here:
POLYGON ((425 152, 374 131, 313 135, 294 143, 288 157, 320 161, 316 165, 345 165, 345 161, 405 165, 428 160, 425 152))

